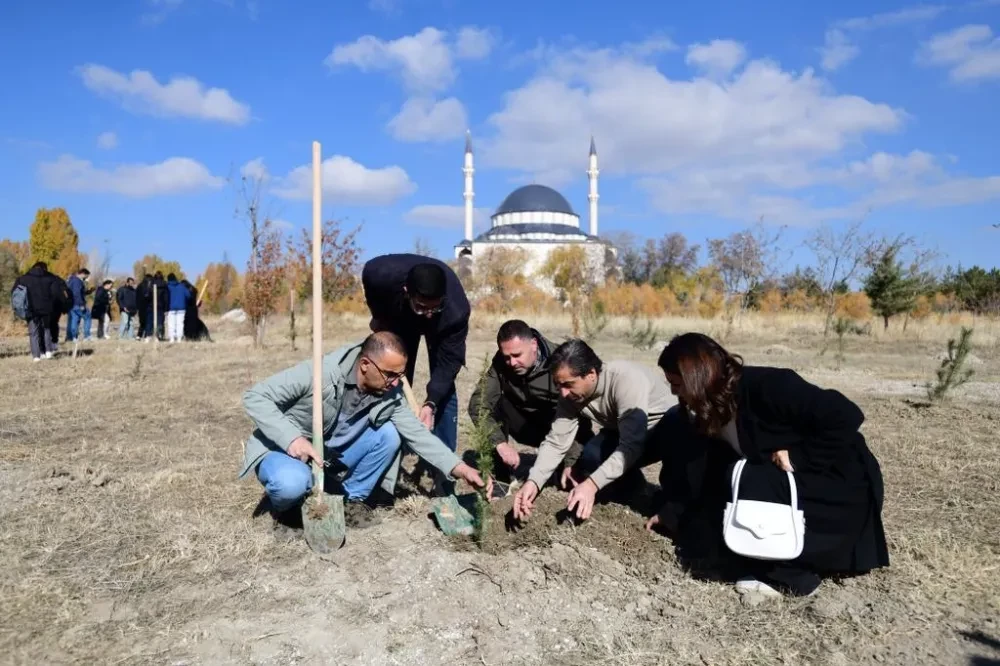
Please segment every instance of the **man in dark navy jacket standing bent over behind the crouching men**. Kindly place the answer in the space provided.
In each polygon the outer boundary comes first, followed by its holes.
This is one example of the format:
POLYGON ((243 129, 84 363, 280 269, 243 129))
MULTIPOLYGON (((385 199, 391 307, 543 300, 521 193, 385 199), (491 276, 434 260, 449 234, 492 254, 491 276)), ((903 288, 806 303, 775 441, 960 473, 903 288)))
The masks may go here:
POLYGON ((406 378, 413 382, 420 338, 427 345, 430 381, 419 418, 448 448, 458 446, 455 377, 465 365, 469 301, 455 271, 438 259, 386 254, 361 271, 373 331, 392 331, 406 345, 406 378))

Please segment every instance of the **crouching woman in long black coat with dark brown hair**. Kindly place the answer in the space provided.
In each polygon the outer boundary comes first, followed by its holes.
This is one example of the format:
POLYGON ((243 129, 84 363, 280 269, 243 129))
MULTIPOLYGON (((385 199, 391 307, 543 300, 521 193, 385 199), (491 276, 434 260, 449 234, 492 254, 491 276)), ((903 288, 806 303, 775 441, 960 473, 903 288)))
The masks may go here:
POLYGON ((882 472, 858 432, 857 405, 793 370, 744 366, 700 333, 675 337, 658 364, 680 409, 665 442, 667 503, 647 527, 687 519, 701 523, 695 533, 721 541, 733 465, 746 458, 740 498, 787 504, 791 471, 806 530, 802 554, 790 562, 732 555, 743 576, 737 587, 808 595, 823 574, 888 566, 882 472))

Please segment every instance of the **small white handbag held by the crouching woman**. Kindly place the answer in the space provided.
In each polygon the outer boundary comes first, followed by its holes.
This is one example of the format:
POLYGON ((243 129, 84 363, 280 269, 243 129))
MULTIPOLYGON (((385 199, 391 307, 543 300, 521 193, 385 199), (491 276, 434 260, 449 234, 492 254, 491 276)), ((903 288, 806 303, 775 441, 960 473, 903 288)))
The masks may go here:
POLYGON ((788 474, 791 504, 741 500, 740 477, 746 459, 733 468, 733 499, 726 504, 722 537, 729 550, 756 560, 794 560, 802 554, 806 520, 799 510, 795 477, 788 474))

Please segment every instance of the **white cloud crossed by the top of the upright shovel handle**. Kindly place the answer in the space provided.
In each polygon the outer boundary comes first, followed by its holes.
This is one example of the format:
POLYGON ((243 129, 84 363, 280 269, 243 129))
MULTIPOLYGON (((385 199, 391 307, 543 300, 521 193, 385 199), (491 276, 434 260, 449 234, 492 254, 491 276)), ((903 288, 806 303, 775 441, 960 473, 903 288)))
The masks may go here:
MULTIPOLYGON (((388 205, 417 189, 399 166, 369 169, 343 155, 323 160, 322 187, 324 201, 353 205, 388 205)), ((312 166, 292 169, 276 180, 272 191, 284 199, 311 199, 312 166)))

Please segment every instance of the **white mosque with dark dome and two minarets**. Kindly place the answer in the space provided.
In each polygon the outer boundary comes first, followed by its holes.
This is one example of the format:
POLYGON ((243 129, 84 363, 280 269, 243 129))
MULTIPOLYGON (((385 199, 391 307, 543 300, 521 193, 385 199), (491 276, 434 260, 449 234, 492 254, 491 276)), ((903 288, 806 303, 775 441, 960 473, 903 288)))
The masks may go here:
MULTIPOLYGON (((587 253, 588 265, 595 273, 595 280, 603 273, 609 253, 613 260, 614 248, 597 235, 597 148, 590 139, 590 168, 587 177, 590 191, 587 195, 590 216, 589 233, 580 228, 580 216, 562 194, 545 185, 524 185, 501 202, 490 217, 490 229, 473 237, 472 221, 475 194, 472 189, 473 167, 472 139, 465 139, 465 239, 455 246, 459 266, 475 272, 476 258, 492 248, 523 248, 528 261, 525 273, 533 276, 548 259, 549 253, 567 245, 582 245, 587 253)), ((543 281, 544 282, 544 281, 543 281)), ((551 291, 551 285, 539 284, 551 291)))

